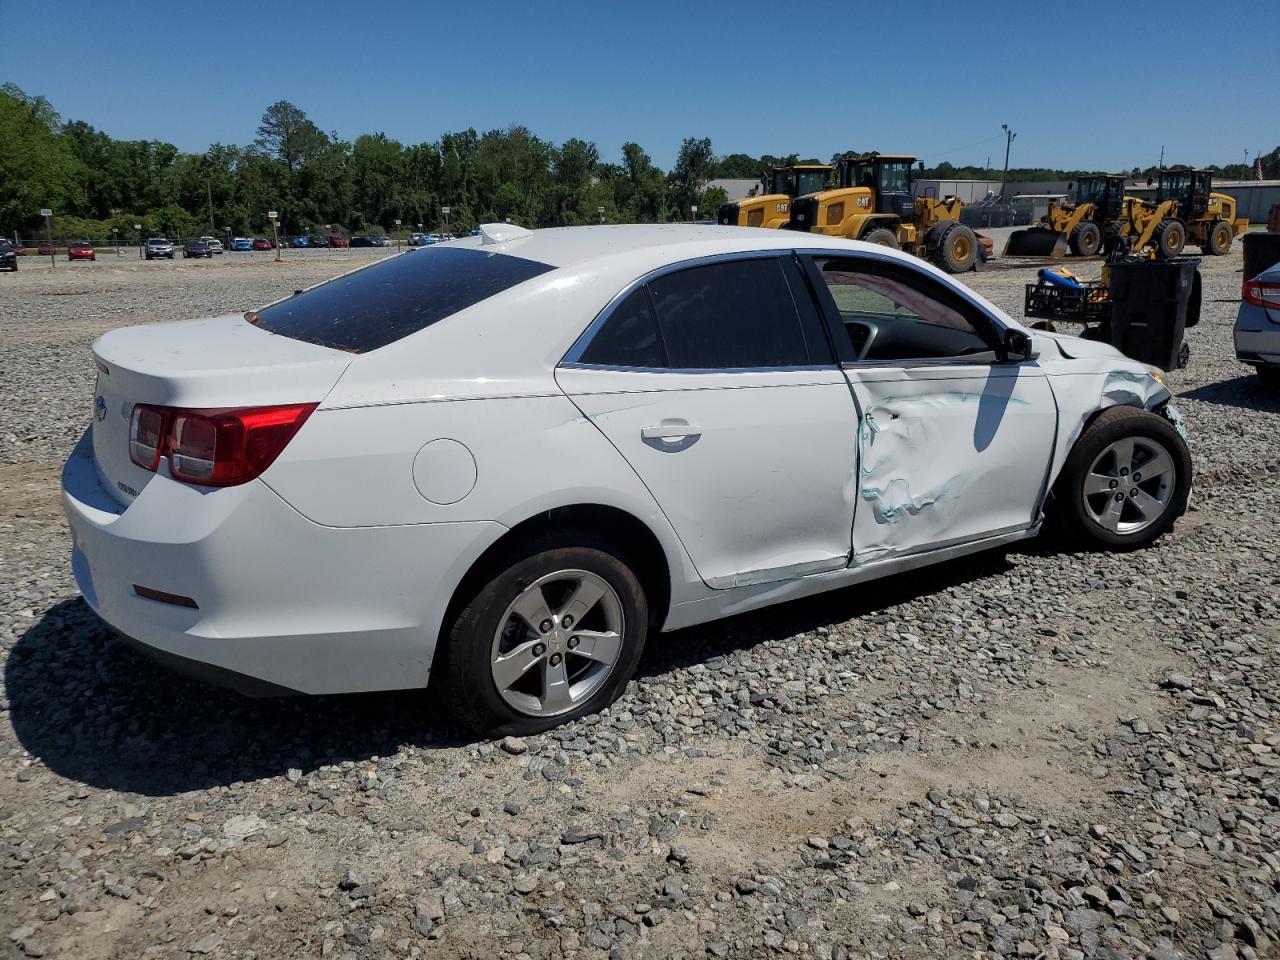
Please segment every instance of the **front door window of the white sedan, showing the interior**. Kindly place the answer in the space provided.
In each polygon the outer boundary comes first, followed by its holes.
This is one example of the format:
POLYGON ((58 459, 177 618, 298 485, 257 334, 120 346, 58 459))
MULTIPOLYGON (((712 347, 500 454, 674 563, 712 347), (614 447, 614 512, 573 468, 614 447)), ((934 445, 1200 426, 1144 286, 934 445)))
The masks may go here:
POLYGON ((858 360, 996 360, 972 311, 936 282, 870 261, 829 259, 817 266, 858 360))

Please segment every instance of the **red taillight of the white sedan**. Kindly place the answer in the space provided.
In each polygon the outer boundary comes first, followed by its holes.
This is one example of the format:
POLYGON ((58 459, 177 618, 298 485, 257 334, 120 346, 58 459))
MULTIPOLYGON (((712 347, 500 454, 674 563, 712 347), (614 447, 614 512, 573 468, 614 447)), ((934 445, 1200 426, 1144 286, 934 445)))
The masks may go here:
POLYGON ((129 458, 155 470, 168 457, 175 480, 234 486, 271 466, 315 408, 315 403, 242 410, 138 403, 129 421, 129 458))

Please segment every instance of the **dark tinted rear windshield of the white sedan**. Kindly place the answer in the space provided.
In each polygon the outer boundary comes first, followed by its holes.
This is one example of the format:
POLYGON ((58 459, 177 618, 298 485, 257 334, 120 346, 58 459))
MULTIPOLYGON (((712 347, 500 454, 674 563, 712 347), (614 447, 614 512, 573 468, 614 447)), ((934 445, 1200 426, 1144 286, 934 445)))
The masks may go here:
POLYGON ((419 250, 244 315, 296 340, 365 353, 554 270, 481 250, 419 250))

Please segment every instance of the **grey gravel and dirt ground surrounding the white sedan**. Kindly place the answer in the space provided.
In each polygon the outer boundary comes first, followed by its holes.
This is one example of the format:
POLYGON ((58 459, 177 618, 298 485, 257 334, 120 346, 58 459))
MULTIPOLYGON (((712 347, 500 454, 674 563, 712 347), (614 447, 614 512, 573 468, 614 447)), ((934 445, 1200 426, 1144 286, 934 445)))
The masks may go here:
MULTIPOLYGON (((0 957, 1230 957, 1280 943, 1280 398, 1204 264, 1194 506, 650 645, 529 740, 421 694, 244 700, 78 598, 58 503, 113 326, 370 251, 0 275, 0 957)), ((26 266, 26 265, 24 265, 26 266)), ((1033 271, 975 288, 1019 311, 1033 271)))

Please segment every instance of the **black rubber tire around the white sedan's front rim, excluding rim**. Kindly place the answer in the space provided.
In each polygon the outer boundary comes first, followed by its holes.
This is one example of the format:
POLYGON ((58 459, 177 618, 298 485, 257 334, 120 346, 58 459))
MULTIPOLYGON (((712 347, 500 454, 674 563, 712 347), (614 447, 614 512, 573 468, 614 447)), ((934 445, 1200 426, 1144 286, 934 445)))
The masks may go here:
MULTIPOLYGON (((1134 476, 1140 476, 1140 467, 1146 462, 1149 460, 1133 463, 1134 476)), ((1053 485, 1052 518, 1069 539, 1083 547, 1133 550, 1147 547, 1172 527, 1174 521, 1187 511, 1190 484, 1190 453, 1187 449, 1187 442, 1172 424, 1161 415, 1146 410, 1110 407, 1089 424, 1066 458, 1066 465, 1053 485), (1108 489, 1087 497, 1084 493, 1085 481, 1091 476, 1091 468, 1100 457, 1105 456, 1111 444, 1124 439, 1135 439, 1139 442, 1139 447, 1142 440, 1147 440, 1152 448, 1164 449, 1172 461, 1172 470, 1149 477, 1140 484, 1140 488, 1133 485, 1132 480, 1117 477, 1114 481, 1117 484, 1115 494, 1108 489), (1161 476, 1169 477, 1172 489, 1166 492, 1161 484, 1161 476), (1121 503, 1121 513, 1117 515, 1121 524, 1135 522, 1134 513, 1140 517, 1140 511, 1134 502, 1123 499, 1126 489, 1125 483, 1133 485, 1135 490, 1140 489, 1148 497, 1167 497, 1164 512, 1146 526, 1138 526, 1129 531, 1110 530, 1096 518, 1094 511, 1103 511, 1111 502, 1121 503), (1121 499, 1116 500, 1117 497, 1121 499), (1125 521, 1125 516, 1130 516, 1130 521, 1125 521)))

